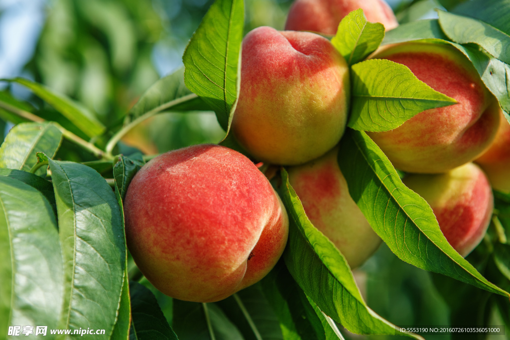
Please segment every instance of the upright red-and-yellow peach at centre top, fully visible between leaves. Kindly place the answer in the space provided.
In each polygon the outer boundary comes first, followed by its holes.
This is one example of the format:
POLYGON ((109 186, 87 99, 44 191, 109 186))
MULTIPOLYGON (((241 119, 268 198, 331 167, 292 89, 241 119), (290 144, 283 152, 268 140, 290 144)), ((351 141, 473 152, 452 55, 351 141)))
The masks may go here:
POLYGON ((258 160, 302 164, 338 143, 348 98, 347 63, 327 39, 259 27, 243 40, 232 131, 258 160))

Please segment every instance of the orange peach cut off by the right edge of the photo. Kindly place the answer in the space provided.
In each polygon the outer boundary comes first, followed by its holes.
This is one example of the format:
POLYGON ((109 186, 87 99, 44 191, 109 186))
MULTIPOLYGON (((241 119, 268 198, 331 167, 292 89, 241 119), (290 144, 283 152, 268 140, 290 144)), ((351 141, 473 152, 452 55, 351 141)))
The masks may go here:
POLYGON ((501 124, 491 146, 475 162, 494 189, 510 193, 510 124, 501 112, 501 124))

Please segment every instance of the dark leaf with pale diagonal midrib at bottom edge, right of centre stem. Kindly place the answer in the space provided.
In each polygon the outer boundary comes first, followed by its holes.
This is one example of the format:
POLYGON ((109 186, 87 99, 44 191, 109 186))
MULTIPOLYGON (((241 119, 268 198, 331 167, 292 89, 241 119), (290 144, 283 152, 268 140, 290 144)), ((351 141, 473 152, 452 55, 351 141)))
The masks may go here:
POLYGON ((283 340, 278 319, 260 284, 249 286, 216 304, 245 340, 283 340))

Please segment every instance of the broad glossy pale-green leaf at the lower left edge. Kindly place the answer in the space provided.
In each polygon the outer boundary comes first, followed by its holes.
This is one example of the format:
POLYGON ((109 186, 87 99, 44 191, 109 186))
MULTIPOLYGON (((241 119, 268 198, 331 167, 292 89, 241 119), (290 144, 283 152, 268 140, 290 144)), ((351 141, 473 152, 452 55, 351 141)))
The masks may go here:
POLYGON ((62 256, 55 214, 39 191, 7 176, 0 176, 0 204, 0 334, 17 325, 56 328, 62 256))

